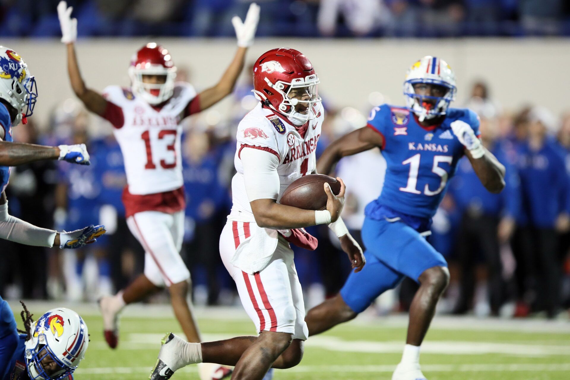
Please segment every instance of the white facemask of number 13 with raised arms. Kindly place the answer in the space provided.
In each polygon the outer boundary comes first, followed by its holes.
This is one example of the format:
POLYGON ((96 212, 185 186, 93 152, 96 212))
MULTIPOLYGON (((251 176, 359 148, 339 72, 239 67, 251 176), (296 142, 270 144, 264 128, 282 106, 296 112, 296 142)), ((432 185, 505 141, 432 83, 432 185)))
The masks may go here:
POLYGON ((176 67, 165 68, 162 65, 147 64, 145 68, 129 67, 129 76, 135 95, 142 97, 146 103, 156 105, 170 99, 174 92, 176 67), (143 75, 164 75, 164 83, 145 83, 143 75))

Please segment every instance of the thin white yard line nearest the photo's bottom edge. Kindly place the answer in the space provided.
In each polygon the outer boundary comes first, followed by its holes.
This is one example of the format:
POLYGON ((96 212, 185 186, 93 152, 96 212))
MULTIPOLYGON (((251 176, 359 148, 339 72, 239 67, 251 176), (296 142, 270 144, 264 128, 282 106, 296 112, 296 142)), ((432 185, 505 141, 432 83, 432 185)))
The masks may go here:
MULTIPOLYGON (((116 368, 79 368, 76 374, 82 375, 105 375, 105 374, 133 374, 148 373, 150 367, 116 367, 116 368)), ((296 373, 322 373, 322 372, 392 372, 393 365, 298 365, 284 370, 296 373)), ((425 372, 534 372, 534 371, 568 371, 570 363, 555 364, 426 364, 422 365, 425 372)), ((196 366, 184 367, 178 372, 196 372, 196 366)))

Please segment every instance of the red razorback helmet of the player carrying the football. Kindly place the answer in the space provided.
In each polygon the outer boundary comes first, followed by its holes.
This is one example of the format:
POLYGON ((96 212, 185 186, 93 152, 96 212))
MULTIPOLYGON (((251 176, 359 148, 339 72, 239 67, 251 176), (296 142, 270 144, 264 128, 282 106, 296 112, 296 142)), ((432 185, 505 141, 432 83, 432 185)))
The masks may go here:
POLYGON ((295 49, 265 52, 253 68, 255 96, 267 107, 301 122, 319 113, 319 82, 311 62, 295 49))

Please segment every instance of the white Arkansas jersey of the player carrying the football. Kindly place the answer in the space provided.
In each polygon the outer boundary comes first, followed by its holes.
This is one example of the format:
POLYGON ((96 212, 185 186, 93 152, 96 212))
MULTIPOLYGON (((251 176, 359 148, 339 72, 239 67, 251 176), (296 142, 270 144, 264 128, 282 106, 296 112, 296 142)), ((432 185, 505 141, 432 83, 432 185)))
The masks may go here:
MULTIPOLYGON (((318 105, 316 107, 319 107, 318 105)), ((255 222, 243 179, 243 166, 239 158, 242 149, 247 146, 266 150, 279 157, 279 197, 287 186, 316 169, 316 147, 323 124, 324 111, 320 107, 314 120, 303 127, 292 125, 284 117, 278 116, 272 109, 262 107, 261 103, 250 111, 238 125, 237 150, 234 165, 237 173, 231 181, 233 206, 228 216, 239 222, 255 222)))

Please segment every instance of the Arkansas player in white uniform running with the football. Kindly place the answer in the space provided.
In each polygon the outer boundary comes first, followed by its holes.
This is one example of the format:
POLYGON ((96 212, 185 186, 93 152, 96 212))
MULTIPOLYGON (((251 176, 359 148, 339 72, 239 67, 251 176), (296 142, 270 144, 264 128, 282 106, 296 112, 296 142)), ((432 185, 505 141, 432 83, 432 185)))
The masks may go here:
POLYGON ((151 380, 168 379, 181 367, 202 361, 235 365, 232 379, 259 380, 270 367, 290 368, 301 361, 308 332, 289 243, 315 249, 315 238, 303 227, 334 222, 331 228, 352 267, 359 271, 364 265, 360 247, 339 219, 345 189, 340 178, 337 196, 324 186, 326 210, 276 202, 291 182, 316 169, 324 111, 311 62, 299 51, 280 48, 260 56, 253 70, 260 102, 238 126, 233 207, 219 249, 259 336, 194 344, 169 333, 151 380))

